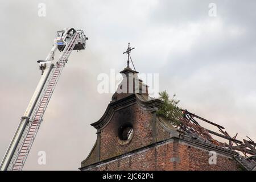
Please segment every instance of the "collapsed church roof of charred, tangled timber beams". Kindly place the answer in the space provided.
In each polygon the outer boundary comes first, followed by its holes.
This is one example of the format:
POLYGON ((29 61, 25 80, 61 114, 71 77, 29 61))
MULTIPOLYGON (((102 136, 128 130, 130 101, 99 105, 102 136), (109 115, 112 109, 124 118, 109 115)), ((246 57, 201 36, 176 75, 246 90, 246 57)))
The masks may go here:
POLYGON ((248 139, 238 140, 237 135, 231 137, 223 126, 220 126, 207 119, 201 118, 196 114, 192 114, 187 110, 181 110, 183 117, 179 118, 180 123, 176 126, 178 131, 189 134, 192 138, 204 140, 210 142, 216 146, 220 146, 229 150, 236 151, 241 155, 234 155, 234 159, 237 160, 247 170, 256 170, 256 143, 249 137, 248 139), (218 132, 209 130, 202 127, 199 121, 206 122, 218 129, 218 132), (220 137, 224 141, 214 139, 214 137, 220 137))

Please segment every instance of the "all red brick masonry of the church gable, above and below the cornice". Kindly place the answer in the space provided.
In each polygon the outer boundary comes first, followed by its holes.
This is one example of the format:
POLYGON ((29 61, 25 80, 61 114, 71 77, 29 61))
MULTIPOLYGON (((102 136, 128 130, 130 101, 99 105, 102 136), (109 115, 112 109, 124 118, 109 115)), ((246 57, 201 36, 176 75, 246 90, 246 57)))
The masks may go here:
POLYGON ((173 136, 163 127, 155 110, 138 101, 115 110, 110 121, 98 129, 97 142, 81 170, 240 170, 233 154, 218 148, 217 164, 209 164, 207 144, 173 136), (118 143, 118 129, 125 123, 133 126, 133 138, 118 143))

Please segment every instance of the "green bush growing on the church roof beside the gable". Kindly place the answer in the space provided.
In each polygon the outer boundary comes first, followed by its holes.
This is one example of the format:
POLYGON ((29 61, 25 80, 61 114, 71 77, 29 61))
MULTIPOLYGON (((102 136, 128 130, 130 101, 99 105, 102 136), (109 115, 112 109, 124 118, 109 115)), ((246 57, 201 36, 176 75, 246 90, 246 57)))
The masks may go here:
POLYGON ((181 109, 177 107, 177 104, 179 104, 180 101, 175 99, 176 95, 174 94, 172 98, 169 98, 168 93, 164 90, 159 93, 159 96, 159 99, 163 101, 163 104, 159 107, 156 114, 168 119, 168 121, 176 126, 179 125, 179 118, 182 117, 182 114, 181 109))

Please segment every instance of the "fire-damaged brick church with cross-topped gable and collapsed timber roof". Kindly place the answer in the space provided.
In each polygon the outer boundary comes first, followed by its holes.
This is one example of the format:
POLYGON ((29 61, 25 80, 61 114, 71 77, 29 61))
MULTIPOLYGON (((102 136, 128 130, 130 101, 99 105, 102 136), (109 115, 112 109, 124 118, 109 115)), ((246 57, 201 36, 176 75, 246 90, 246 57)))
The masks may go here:
POLYGON ((97 139, 80 170, 256 170, 252 140, 232 138, 224 127, 187 110, 181 125, 172 125, 156 114, 163 101, 148 96, 138 72, 128 64, 120 73, 122 92, 113 94, 104 115, 91 124, 97 139), (199 120, 223 132, 205 129, 199 120))

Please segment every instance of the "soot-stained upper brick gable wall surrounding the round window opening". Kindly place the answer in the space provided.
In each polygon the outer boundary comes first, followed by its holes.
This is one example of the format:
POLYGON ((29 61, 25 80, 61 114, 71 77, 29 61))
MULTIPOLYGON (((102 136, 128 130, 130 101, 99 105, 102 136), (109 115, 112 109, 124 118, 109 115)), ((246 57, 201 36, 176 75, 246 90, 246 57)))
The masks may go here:
POLYGON ((108 123, 100 134, 100 160, 121 155, 152 143, 152 114, 145 111, 138 104, 116 111, 112 121, 108 123), (118 129, 125 123, 133 125, 134 135, 129 144, 118 143, 118 129))

